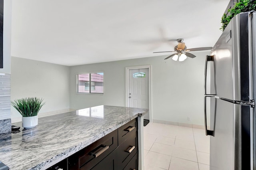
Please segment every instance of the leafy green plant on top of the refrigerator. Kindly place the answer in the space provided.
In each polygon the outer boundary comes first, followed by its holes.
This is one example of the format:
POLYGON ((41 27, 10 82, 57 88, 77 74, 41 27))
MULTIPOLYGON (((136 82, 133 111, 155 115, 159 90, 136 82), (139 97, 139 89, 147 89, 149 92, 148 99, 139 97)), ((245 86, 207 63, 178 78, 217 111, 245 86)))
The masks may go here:
POLYGON ((240 0, 237 2, 233 8, 229 9, 229 16, 224 14, 221 18, 222 27, 220 30, 224 31, 230 20, 241 12, 249 12, 256 10, 256 0, 240 0))

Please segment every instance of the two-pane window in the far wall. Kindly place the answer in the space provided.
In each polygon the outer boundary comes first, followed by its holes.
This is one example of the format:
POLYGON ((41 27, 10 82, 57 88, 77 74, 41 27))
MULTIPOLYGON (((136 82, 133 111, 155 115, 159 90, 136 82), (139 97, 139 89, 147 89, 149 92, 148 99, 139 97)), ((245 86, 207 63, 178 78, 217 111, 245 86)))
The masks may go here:
POLYGON ((77 93, 103 94, 104 73, 86 73, 77 75, 77 93))

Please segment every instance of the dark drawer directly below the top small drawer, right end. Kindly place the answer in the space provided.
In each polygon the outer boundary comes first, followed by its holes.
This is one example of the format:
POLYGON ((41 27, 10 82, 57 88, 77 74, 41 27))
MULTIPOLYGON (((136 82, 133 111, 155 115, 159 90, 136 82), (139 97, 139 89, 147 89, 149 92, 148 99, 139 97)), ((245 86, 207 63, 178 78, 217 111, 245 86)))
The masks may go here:
POLYGON ((123 169, 132 157, 138 152, 137 131, 130 132, 127 140, 118 146, 118 162, 120 169, 123 169))

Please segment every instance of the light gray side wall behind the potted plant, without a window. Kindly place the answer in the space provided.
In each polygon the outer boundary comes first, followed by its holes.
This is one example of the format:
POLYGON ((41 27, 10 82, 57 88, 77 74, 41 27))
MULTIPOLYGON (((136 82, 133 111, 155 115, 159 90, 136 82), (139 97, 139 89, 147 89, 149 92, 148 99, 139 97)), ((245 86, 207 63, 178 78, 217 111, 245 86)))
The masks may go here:
MULTIPOLYGON (((18 57, 12 57, 11 66, 12 101, 23 97, 42 97, 46 105, 38 116, 69 109, 70 67, 18 57)), ((13 107, 11 112, 12 121, 21 117, 13 107)))

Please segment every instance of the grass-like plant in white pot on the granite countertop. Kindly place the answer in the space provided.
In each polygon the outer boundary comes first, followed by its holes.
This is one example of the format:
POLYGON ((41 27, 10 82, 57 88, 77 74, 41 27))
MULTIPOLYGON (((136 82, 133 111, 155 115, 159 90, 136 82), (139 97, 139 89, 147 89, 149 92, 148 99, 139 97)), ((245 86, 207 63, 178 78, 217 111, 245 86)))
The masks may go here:
POLYGON ((44 105, 43 99, 27 97, 11 101, 11 105, 22 115, 22 127, 32 128, 38 125, 38 111, 44 105))

